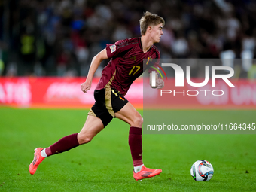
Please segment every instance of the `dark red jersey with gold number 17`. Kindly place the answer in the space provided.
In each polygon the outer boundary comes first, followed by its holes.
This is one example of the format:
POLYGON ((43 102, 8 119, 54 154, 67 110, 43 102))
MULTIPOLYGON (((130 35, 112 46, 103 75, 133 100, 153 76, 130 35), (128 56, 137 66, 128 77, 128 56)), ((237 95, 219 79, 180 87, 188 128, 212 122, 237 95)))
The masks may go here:
POLYGON ((152 63, 143 66, 143 59, 160 59, 160 51, 152 45, 144 53, 141 38, 129 38, 107 44, 108 65, 102 70, 102 77, 96 86, 96 90, 105 87, 114 87, 125 96, 136 78, 152 63))

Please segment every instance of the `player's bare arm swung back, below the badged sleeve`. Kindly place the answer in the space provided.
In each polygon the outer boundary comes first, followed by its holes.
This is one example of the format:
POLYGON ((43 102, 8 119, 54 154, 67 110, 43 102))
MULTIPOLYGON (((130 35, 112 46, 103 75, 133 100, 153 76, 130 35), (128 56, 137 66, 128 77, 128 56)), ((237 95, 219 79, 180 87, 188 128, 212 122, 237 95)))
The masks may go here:
POLYGON ((96 70, 98 69, 100 63, 102 60, 108 59, 107 50, 104 49, 101 52, 99 52, 96 56, 93 57, 92 62, 90 63, 90 69, 87 75, 86 81, 81 84, 81 90, 84 93, 87 93, 87 90, 90 90, 92 81, 93 81, 93 75, 95 74, 96 70))

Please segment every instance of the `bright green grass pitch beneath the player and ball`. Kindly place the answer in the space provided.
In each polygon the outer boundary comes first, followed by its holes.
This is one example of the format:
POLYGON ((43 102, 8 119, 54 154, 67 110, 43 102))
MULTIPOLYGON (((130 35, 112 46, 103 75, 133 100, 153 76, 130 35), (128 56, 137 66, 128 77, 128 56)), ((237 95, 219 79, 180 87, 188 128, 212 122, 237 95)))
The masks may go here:
MULTIPOLYGON (((184 117, 191 113, 174 111, 173 118, 180 117, 181 112, 184 117)), ((200 110, 192 112, 204 114, 200 110)), ((207 114, 211 112, 216 113, 207 114)), ((218 114, 227 117, 232 113, 218 111, 218 114)), ((242 111, 239 118, 248 122, 255 114, 242 111)), ((128 145, 129 126, 117 119, 92 142, 46 158, 35 175, 30 175, 34 148, 48 147, 63 136, 78 133, 86 117, 87 110, 0 108, 0 190, 256 190, 256 135, 144 134, 145 166, 163 172, 155 178, 135 181, 128 145), (197 182, 190 176, 190 166, 201 159, 209 160, 215 169, 211 181, 197 182)), ((193 119, 190 121, 195 123, 193 119)))

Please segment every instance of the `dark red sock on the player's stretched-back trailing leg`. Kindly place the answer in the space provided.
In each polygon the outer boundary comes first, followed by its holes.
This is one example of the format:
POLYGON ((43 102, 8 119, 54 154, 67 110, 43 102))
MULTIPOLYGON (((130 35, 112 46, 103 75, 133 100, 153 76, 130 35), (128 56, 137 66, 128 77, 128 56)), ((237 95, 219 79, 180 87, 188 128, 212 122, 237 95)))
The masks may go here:
POLYGON ((50 145, 49 148, 45 148, 45 153, 47 156, 59 154, 64 151, 68 151, 69 149, 75 148, 78 145, 78 133, 75 133, 69 136, 65 136, 62 139, 59 139, 58 142, 50 145))

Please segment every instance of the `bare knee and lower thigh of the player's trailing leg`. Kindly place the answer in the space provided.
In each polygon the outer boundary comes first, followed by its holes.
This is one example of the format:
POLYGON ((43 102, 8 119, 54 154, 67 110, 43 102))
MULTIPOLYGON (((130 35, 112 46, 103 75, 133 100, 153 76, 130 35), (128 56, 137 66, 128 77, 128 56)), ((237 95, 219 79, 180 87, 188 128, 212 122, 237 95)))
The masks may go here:
POLYGON ((79 144, 90 142, 103 129, 104 125, 99 117, 88 115, 82 130, 78 133, 79 144))

